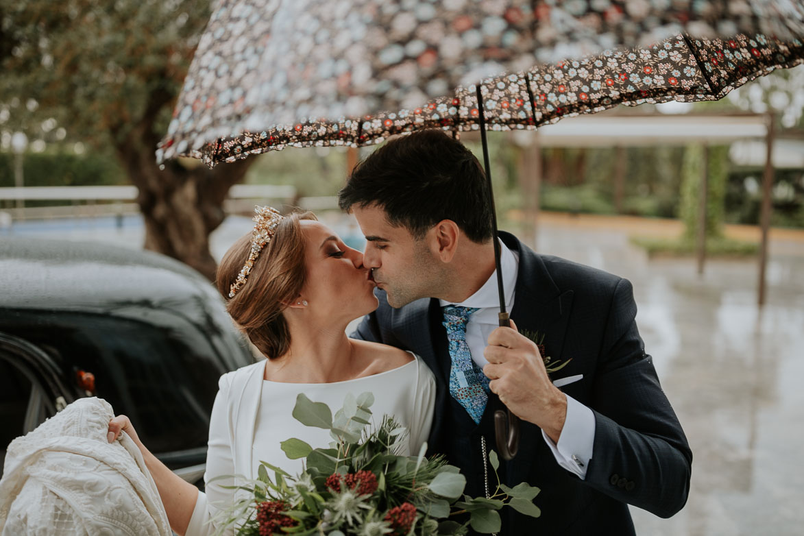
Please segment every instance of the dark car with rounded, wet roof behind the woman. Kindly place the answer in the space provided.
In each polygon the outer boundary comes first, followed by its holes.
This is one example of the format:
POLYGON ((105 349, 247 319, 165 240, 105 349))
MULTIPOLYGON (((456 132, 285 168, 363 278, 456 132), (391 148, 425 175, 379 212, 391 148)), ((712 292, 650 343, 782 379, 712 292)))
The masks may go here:
POLYGON ((0 458, 73 400, 129 415, 199 484, 218 378, 254 362, 212 284, 151 252, 0 238, 0 458))

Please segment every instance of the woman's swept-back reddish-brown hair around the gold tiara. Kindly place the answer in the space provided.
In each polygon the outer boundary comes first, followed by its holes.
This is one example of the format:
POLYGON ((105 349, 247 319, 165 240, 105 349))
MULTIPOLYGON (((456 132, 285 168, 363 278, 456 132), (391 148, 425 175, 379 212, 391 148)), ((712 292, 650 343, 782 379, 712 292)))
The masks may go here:
POLYGON ((290 332, 282 311, 301 293, 305 282, 301 219, 316 217, 312 212, 285 216, 235 297, 229 298, 229 288, 248 259, 252 247, 250 232, 229 248, 215 273, 215 284, 226 300, 228 313, 257 350, 269 359, 284 355, 290 347, 290 332))

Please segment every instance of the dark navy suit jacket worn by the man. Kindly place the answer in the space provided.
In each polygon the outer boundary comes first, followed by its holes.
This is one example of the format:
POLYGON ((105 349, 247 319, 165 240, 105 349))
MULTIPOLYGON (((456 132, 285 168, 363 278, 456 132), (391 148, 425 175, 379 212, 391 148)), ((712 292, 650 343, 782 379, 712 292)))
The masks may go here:
MULTIPOLYGON (((637 307, 628 280, 554 256, 538 255, 505 232, 500 238, 519 252, 519 272, 511 318, 520 330, 544 334, 545 353, 568 361, 552 379, 583 374, 561 387, 592 409, 593 457, 585 480, 560 467, 534 424, 522 422, 519 453, 501 461, 499 476, 513 486, 527 481, 541 489, 539 518, 511 508, 501 511, 503 534, 634 534, 626 504, 662 518, 687 501, 692 453, 659 385, 640 338, 637 307)), ((437 299, 400 309, 377 290, 379 307, 353 335, 412 350, 433 370, 436 412, 429 454, 441 453, 467 477, 466 493, 482 496, 481 436, 494 446, 491 400, 479 424, 449 395, 449 350, 437 299)), ((489 475, 494 489, 493 473, 489 475)))

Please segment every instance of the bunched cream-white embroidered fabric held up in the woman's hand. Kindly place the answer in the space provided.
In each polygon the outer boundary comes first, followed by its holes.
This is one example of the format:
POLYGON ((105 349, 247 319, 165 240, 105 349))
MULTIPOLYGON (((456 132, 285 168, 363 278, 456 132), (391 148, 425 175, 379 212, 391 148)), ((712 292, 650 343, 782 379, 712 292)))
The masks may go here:
POLYGON ((103 399, 78 399, 11 442, 0 535, 172 534, 137 445, 125 432, 106 440, 113 415, 103 399))

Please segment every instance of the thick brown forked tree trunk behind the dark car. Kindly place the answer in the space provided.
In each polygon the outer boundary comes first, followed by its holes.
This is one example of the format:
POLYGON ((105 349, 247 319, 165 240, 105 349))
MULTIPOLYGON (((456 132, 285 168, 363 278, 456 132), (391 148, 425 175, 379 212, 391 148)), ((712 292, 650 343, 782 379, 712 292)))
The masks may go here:
POLYGON ((117 145, 117 156, 139 194, 137 204, 145 219, 145 248, 181 260, 215 279, 215 259, 209 235, 224 221, 224 199, 240 182, 253 158, 207 169, 167 162, 160 170, 154 158, 155 143, 130 136, 117 145))

